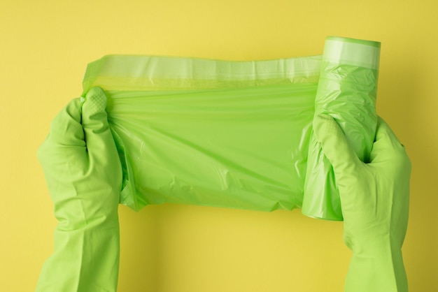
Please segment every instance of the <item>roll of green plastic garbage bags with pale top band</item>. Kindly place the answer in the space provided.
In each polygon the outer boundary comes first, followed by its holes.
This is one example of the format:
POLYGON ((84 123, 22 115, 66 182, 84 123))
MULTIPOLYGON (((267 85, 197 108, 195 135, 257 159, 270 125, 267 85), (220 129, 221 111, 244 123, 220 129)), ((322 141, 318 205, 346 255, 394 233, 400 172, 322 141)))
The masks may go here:
MULTIPOLYGON (((315 115, 331 115, 365 162, 376 132, 379 56, 378 42, 327 37, 315 98, 315 115)), ((343 219, 336 177, 313 132, 302 213, 320 219, 343 219)))

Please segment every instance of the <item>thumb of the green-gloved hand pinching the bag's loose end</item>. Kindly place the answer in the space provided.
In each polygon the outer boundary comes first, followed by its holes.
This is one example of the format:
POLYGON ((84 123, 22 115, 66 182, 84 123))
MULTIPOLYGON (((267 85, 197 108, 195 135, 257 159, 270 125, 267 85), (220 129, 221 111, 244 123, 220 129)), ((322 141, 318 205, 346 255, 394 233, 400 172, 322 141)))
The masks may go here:
POLYGON ((82 126, 87 152, 90 159, 103 165, 111 157, 117 157, 113 136, 108 126, 106 101, 104 89, 92 87, 85 95, 82 106, 82 126))

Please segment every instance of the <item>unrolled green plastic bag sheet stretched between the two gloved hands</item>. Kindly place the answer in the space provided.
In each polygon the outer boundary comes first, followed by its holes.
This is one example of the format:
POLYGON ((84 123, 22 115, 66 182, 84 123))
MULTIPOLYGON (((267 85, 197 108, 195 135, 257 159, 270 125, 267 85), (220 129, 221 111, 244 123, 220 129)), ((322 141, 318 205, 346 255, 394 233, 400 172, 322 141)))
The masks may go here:
MULTIPOLYGON (((134 210, 164 202, 302 207, 313 115, 325 103, 316 103, 320 71, 327 68, 321 64, 321 56, 217 61, 121 55, 89 64, 84 94, 97 86, 108 97, 123 168, 120 202, 134 210)), ((347 124, 357 119, 356 96, 348 98, 340 111, 350 112, 347 124)), ((321 200, 313 193, 325 194, 326 182, 316 180, 313 187, 309 200, 321 200)), ((324 217, 327 204, 317 204, 323 211, 315 217, 324 217)))

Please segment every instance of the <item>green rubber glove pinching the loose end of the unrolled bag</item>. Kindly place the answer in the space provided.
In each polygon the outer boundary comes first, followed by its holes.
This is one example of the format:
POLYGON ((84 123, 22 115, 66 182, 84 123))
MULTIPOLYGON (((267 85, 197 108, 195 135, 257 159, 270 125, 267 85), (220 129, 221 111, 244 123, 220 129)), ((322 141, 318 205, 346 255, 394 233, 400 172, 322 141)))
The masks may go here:
POLYGON ((59 221, 55 250, 36 291, 116 291, 118 202, 122 168, 106 117, 106 96, 93 87, 59 112, 38 149, 59 221))

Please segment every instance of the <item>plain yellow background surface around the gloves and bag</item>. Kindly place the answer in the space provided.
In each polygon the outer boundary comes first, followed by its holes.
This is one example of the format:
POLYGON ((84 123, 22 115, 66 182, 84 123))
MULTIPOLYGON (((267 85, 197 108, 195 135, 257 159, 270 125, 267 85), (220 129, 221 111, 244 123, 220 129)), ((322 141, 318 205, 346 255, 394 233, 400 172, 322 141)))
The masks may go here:
MULTIPOLYGON (((378 112, 413 163, 403 253, 438 291, 438 1, 0 2, 0 291, 32 291, 55 219, 36 149, 104 54, 251 60, 321 54, 325 36, 381 41, 378 112)), ((187 205, 120 206, 122 292, 342 291, 340 222, 187 205)))

